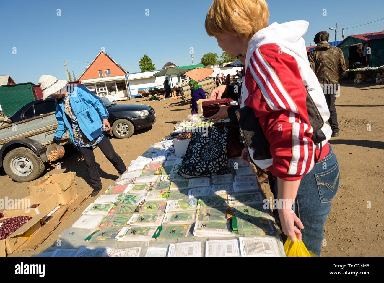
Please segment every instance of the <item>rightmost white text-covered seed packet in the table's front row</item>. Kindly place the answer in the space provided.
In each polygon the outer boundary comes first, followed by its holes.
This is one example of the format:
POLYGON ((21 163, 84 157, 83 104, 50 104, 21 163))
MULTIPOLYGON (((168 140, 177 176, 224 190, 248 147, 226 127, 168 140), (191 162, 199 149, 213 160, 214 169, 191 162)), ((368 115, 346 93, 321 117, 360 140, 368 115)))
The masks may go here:
POLYGON ((239 238, 241 256, 281 256, 274 237, 239 238))

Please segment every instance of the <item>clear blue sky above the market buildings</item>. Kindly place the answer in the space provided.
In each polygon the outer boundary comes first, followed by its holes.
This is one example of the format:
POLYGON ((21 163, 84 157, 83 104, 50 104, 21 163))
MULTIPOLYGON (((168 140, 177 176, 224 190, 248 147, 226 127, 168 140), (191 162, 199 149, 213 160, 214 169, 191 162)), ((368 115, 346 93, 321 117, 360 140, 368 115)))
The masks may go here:
MULTIPOLYGON (((205 32, 205 15, 212 0, 58 0, 3 1, 0 10, 0 75, 10 75, 16 83, 38 83, 41 75, 66 79, 63 60, 76 78, 102 47, 122 68, 139 72, 139 60, 146 53, 160 69, 170 61, 190 65, 204 53, 222 50, 205 32), (61 15, 57 15, 61 9, 61 15), (146 16, 149 9, 149 16, 146 16), (16 47, 16 54, 12 54, 16 47)), ((309 46, 314 35, 327 30, 330 41, 338 23, 337 40, 384 30, 384 1, 370 0, 267 0, 269 22, 307 20, 304 39, 309 46), (323 16, 326 9, 326 16, 323 16), (369 24, 366 24, 369 23, 369 24), (366 25, 363 25, 366 24, 366 25), (362 25, 360 27, 355 27, 362 25)))

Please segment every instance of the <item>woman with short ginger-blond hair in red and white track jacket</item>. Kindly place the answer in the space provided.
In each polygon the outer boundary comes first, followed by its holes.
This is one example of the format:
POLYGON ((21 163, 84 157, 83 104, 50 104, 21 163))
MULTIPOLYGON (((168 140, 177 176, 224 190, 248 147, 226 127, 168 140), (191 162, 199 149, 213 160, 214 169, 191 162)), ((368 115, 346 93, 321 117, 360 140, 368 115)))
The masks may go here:
POLYGON ((305 52, 302 36, 308 22, 268 26, 268 16, 265 0, 214 0, 205 29, 230 57, 246 56, 240 107, 253 108, 262 128, 258 135, 265 135, 270 143, 272 158, 255 159, 248 148, 243 150, 242 160, 267 168, 275 176, 275 201, 295 204, 294 210, 278 207, 283 233, 292 241, 296 233, 308 250, 320 255, 324 222, 340 174, 328 144, 331 127, 324 123, 325 140, 320 144, 314 145, 311 139, 306 86, 313 89, 310 96, 324 121, 329 110, 305 52))

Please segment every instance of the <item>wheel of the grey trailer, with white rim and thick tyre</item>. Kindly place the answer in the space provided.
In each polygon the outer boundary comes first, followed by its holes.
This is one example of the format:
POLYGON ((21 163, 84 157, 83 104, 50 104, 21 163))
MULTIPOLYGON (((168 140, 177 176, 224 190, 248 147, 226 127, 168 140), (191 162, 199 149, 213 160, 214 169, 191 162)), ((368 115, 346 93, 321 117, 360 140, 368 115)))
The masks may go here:
POLYGON ((29 148, 19 147, 5 155, 3 167, 12 180, 29 182, 40 177, 45 169, 45 164, 40 156, 29 148))

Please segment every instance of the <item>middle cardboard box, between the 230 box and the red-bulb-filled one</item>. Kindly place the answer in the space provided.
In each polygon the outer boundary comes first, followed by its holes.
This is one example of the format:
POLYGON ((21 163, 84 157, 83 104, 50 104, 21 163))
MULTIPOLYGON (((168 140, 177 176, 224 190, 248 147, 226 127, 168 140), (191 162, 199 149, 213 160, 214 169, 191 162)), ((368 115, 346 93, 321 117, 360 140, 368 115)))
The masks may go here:
POLYGON ((56 194, 50 195, 39 195, 39 196, 27 196, 22 200, 18 201, 14 205, 8 207, 3 211, 4 217, 15 217, 15 216, 31 216, 39 214, 39 211, 49 211, 45 219, 48 218, 53 212, 60 207, 59 199, 56 194), (36 208, 27 209, 28 206, 38 204, 36 208), (28 211, 29 210, 29 211, 28 211))

